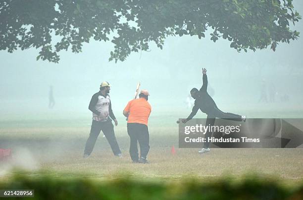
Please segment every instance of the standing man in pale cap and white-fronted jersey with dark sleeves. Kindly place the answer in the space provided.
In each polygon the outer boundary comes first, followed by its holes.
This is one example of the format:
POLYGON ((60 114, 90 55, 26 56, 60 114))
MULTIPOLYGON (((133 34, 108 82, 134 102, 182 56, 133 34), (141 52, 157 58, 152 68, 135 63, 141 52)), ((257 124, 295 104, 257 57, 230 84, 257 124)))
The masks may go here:
POLYGON ((111 122, 112 119, 114 120, 115 125, 118 125, 118 121, 111 109, 111 102, 108 95, 109 91, 110 85, 108 82, 102 82, 100 85, 100 91, 93 95, 90 102, 89 109, 93 112, 93 122, 90 136, 85 145, 83 155, 85 158, 92 153, 101 130, 106 137, 114 155, 123 157, 115 137, 113 124, 111 122))

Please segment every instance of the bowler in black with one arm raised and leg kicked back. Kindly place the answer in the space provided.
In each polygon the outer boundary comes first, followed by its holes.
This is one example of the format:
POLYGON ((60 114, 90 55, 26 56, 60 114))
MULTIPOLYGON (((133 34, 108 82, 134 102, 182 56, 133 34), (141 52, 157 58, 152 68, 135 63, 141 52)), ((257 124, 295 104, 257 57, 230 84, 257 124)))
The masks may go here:
MULTIPOLYGON (((191 96, 195 99, 195 105, 193 107, 192 113, 186 119, 182 119, 182 122, 186 123, 187 121, 191 120, 197 114, 199 109, 207 114, 205 126, 213 126, 215 118, 245 122, 246 116, 223 112, 217 107, 214 100, 207 93, 207 76, 205 68, 202 68, 202 74, 202 88, 200 90, 198 90, 197 88, 193 88, 191 90, 191 96)), ((179 121, 177 121, 177 123, 179 123, 179 121)), ((212 132, 208 131, 207 133, 205 133, 205 138, 210 138, 211 134, 212 132)), ((202 148, 202 150, 199 151, 199 153, 208 152, 209 150, 209 142, 206 140, 206 142, 204 143, 204 147, 202 148)))

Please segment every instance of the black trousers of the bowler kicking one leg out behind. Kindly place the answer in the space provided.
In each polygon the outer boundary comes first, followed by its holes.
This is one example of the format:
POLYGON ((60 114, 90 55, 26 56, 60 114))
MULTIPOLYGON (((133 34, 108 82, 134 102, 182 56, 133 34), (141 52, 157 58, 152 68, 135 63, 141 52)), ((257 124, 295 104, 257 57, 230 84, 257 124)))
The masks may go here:
MULTIPOLYGON (((233 121, 242 121, 242 116, 230 112, 223 112, 219 108, 215 107, 212 111, 207 113, 205 126, 213 126, 216 118, 233 120, 233 121)), ((203 145, 203 148, 209 148, 208 138, 211 138, 212 132, 207 131, 205 133, 206 142, 203 145)))

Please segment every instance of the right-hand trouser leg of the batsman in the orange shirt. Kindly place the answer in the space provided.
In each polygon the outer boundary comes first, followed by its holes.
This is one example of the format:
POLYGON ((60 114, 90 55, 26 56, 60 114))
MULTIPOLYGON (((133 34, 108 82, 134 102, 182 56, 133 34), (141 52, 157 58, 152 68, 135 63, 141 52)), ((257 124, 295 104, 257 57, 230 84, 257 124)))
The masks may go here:
POLYGON ((140 145, 140 157, 146 159, 150 150, 150 134, 146 125, 140 124, 140 133, 138 135, 138 141, 140 145))

